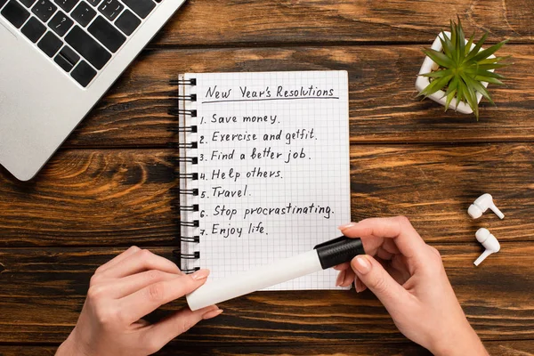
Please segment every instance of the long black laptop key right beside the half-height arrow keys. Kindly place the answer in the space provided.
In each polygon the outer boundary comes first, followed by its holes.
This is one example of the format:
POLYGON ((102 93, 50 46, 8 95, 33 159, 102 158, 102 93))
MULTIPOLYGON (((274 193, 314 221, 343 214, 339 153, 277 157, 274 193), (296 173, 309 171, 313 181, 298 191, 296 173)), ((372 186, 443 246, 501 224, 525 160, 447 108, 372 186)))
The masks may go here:
POLYGON ((80 53, 86 61, 93 64, 94 68, 102 69, 111 59, 111 53, 96 42, 92 36, 87 35, 79 26, 75 26, 65 36, 65 41, 80 53))

